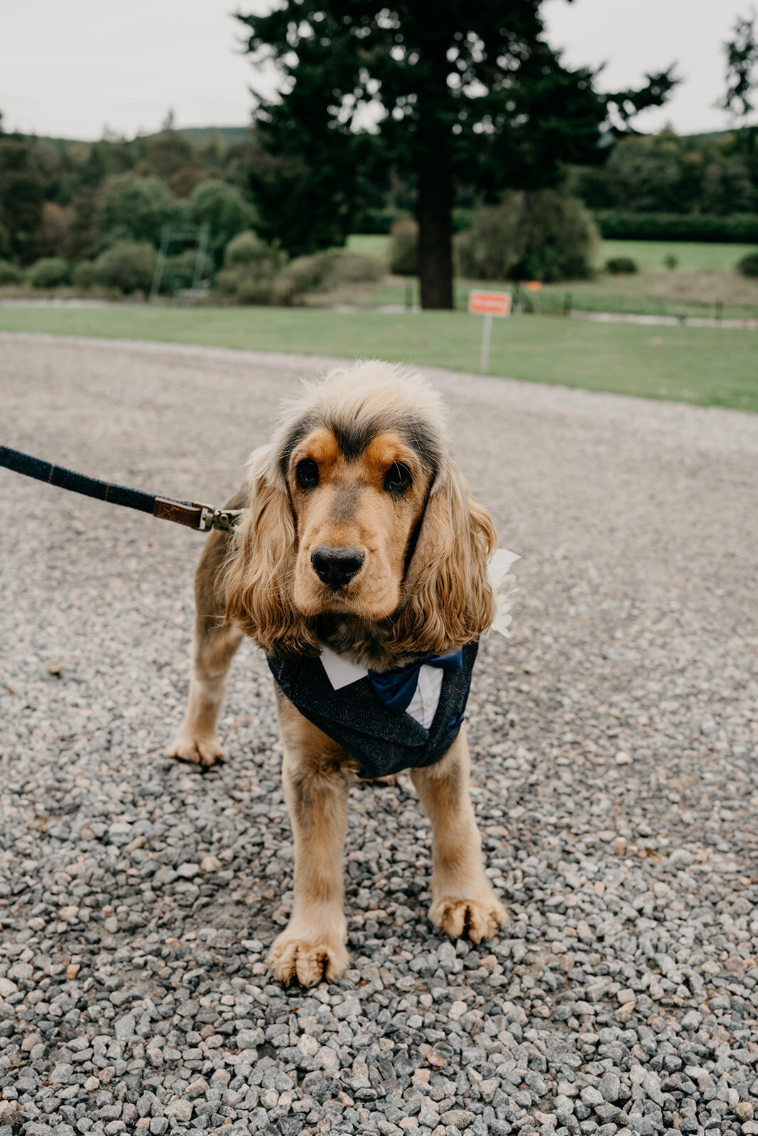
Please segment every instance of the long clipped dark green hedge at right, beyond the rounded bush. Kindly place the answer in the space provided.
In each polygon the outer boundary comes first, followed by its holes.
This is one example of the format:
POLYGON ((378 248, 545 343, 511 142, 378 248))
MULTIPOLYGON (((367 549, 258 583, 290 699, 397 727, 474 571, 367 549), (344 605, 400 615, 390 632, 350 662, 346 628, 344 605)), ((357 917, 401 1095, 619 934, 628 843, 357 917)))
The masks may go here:
POLYGON ((615 241, 726 241, 758 243, 758 214, 631 214, 598 209, 594 220, 602 236, 615 241))

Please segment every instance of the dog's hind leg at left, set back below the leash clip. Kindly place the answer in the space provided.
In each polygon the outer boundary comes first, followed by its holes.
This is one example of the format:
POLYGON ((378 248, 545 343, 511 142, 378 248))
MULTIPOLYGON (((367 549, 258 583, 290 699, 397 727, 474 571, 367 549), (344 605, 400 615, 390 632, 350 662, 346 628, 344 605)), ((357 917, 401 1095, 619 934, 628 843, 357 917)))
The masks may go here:
POLYGON ((224 700, 226 673, 243 637, 241 630, 224 623, 224 601, 218 587, 228 541, 226 533, 211 533, 200 557, 194 577, 190 698, 184 721, 168 749, 170 758, 200 766, 213 766, 224 759, 216 724, 224 700))

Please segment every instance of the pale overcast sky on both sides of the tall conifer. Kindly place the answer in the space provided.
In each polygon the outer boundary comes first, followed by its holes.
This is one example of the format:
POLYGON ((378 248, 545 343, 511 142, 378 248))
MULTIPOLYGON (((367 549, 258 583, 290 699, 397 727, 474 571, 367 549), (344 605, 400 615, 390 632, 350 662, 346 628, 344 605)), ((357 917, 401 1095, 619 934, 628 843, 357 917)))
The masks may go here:
MULTIPOLYGON (((259 3, 265 0, 258 0, 259 3)), ((420 2, 420 0, 419 0, 420 2)), ((234 0, 5 0, 0 111, 6 130, 98 139, 177 126, 236 126, 250 117, 251 68, 234 0)), ((241 0, 249 11, 252 2, 241 0)), ((606 62, 601 89, 678 64, 684 82, 638 127, 724 130, 722 44, 750 0, 545 0, 548 40, 569 65, 606 62)))

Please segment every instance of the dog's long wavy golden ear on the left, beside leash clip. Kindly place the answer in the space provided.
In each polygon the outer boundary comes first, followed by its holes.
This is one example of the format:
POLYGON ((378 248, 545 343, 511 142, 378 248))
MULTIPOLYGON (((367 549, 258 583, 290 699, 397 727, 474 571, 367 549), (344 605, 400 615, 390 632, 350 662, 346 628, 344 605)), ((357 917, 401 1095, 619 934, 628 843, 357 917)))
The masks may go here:
POLYGON ((297 534, 290 499, 272 484, 269 467, 268 449, 248 466, 250 499, 224 576, 226 619, 266 654, 317 654, 316 637, 292 602, 297 534))

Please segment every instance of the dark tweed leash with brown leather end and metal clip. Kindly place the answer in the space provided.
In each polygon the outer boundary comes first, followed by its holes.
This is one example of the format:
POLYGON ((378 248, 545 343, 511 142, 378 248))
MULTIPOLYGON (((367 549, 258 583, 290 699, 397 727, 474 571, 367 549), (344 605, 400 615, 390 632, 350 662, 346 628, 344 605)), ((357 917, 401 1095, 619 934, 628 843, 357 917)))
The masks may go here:
POLYGON ((72 493, 83 493, 85 496, 94 498, 95 501, 108 501, 110 504, 123 504, 127 509, 139 509, 140 512, 149 512, 160 520, 174 520, 177 525, 186 525, 188 528, 194 528, 199 533, 208 533, 211 528, 231 533, 242 511, 214 509, 211 504, 202 504, 200 501, 176 501, 174 498, 143 493, 142 490, 130 490, 125 485, 113 485, 110 482, 98 481, 97 477, 75 474, 73 469, 66 469, 64 466, 53 466, 49 461, 33 458, 30 453, 22 453, 20 450, 11 450, 7 445, 0 445, 0 466, 25 477, 47 482, 48 485, 70 490, 72 493))

